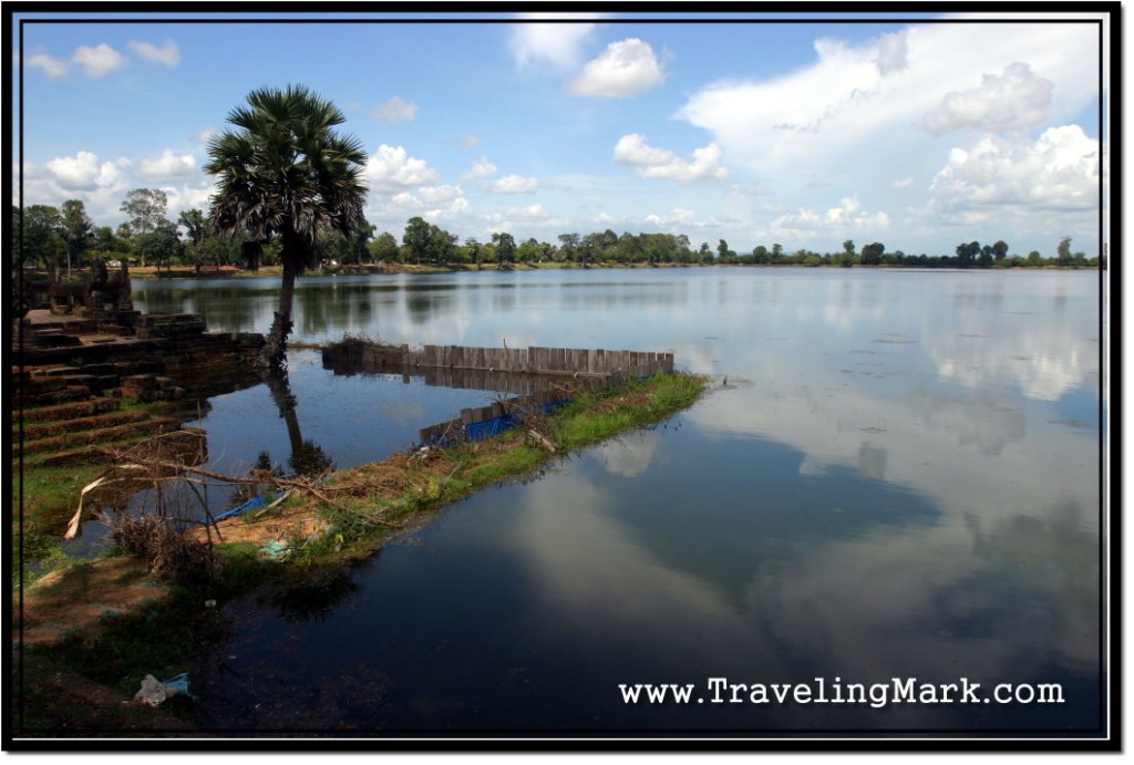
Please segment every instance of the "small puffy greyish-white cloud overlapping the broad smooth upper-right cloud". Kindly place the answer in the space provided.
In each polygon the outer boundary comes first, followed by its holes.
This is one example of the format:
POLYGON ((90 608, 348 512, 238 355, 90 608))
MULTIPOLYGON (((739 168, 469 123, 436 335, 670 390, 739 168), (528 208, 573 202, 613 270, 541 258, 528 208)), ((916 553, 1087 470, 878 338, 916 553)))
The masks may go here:
POLYGON ((1017 61, 1005 67, 1000 77, 984 75, 978 88, 946 93, 941 104, 925 114, 924 125, 934 135, 962 128, 1025 130, 1047 118, 1053 87, 1017 61))

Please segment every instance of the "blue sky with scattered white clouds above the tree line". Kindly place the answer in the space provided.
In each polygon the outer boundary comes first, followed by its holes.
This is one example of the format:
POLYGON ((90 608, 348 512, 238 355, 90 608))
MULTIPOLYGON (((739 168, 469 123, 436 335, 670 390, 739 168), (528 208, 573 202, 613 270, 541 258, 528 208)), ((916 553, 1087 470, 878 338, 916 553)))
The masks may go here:
POLYGON ((116 226, 146 187, 171 219, 206 210, 208 137, 249 91, 303 84, 347 114, 367 219, 399 239, 422 215, 481 241, 609 228, 741 253, 1099 249, 1089 15, 239 17, 15 15, 24 204, 78 198, 116 226))

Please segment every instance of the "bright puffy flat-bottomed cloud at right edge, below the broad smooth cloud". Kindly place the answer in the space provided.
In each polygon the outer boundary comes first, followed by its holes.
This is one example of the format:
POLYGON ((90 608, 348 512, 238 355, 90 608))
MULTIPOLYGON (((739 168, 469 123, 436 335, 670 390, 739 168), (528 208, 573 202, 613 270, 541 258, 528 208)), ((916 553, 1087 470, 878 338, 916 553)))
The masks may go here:
POLYGON ((1099 205, 1099 142, 1077 125, 1053 127, 1031 143, 984 138, 954 148, 930 187, 945 211, 989 205, 1090 210, 1099 205))

